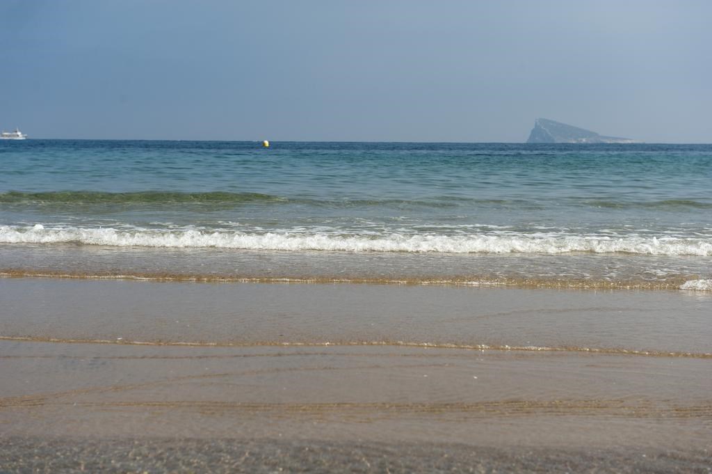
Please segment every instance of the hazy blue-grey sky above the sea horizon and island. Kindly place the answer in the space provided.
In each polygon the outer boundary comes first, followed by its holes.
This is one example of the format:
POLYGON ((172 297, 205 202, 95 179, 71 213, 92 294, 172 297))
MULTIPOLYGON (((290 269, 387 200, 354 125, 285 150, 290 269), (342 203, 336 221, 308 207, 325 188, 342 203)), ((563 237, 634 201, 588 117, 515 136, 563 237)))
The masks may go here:
POLYGON ((0 0, 31 138, 712 143, 712 1, 0 0))

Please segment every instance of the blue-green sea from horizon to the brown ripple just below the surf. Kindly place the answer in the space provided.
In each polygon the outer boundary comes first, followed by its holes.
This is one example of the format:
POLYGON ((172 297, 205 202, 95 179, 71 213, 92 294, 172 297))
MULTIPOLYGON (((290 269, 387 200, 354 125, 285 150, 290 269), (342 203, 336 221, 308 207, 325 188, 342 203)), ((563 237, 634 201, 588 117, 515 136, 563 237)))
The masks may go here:
POLYGON ((712 289, 712 145, 0 143, 0 271, 712 289))

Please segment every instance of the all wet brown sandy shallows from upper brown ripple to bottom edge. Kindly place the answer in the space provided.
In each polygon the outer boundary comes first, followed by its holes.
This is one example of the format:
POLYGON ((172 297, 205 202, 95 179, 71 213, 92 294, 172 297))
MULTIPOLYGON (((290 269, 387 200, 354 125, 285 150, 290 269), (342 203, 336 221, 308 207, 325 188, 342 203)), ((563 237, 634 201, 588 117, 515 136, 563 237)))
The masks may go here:
POLYGON ((712 465, 704 294, 0 279, 0 299, 0 470, 712 465))

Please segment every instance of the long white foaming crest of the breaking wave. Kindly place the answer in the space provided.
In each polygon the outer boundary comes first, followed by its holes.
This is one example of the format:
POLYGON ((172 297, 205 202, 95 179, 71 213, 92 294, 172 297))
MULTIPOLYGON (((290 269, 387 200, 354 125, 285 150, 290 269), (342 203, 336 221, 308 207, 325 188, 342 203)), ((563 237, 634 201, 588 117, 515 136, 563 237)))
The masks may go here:
POLYGON ((234 230, 117 230, 0 226, 0 243, 79 243, 117 247, 214 247, 257 250, 345 252, 533 253, 569 252, 712 256, 712 239, 604 237, 584 235, 334 235, 234 230))

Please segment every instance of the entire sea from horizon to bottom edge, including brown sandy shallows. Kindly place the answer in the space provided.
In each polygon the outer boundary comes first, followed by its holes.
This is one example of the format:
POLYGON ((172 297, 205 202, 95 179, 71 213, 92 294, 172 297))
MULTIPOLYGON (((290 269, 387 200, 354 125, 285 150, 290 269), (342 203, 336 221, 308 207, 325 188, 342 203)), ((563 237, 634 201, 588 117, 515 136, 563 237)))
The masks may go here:
POLYGON ((712 145, 0 163, 2 472, 710 473, 712 145))

